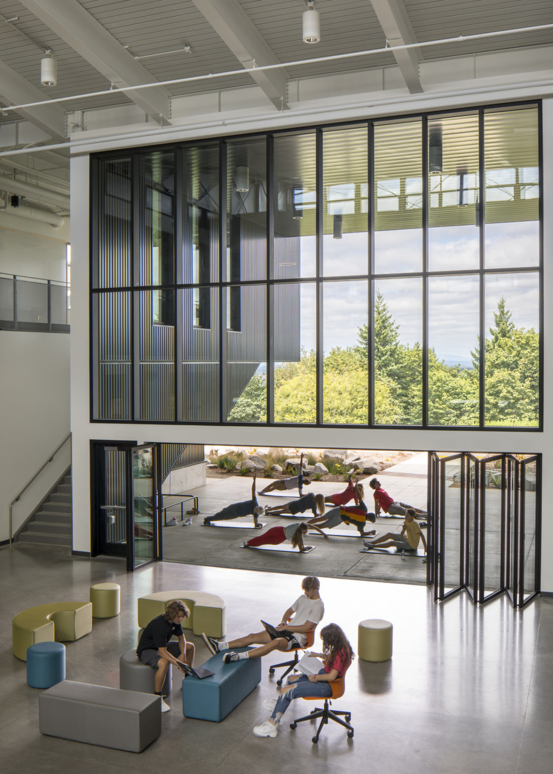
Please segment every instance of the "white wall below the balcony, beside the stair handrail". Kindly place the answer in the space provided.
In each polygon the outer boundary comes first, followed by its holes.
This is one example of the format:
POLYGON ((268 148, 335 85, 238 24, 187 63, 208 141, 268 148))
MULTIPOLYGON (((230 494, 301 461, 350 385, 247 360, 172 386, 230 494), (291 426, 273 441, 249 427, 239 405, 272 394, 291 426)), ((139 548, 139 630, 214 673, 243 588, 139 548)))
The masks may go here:
MULTIPOLYGON (((0 330, 0 541, 9 503, 69 433, 69 336, 0 330)), ((13 507, 13 531, 70 464, 69 445, 13 507)))

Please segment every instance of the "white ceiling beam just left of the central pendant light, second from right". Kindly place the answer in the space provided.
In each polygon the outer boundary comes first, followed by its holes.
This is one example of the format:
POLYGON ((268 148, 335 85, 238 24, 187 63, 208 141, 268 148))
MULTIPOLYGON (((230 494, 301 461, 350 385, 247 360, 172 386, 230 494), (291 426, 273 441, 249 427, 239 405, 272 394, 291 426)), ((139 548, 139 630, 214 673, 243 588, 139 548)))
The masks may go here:
MULTIPOLYGON (((192 0, 198 11, 235 55, 243 67, 278 64, 279 60, 266 40, 259 34, 238 0, 192 0)), ((286 70, 250 73, 273 105, 285 110, 287 105, 286 70)))

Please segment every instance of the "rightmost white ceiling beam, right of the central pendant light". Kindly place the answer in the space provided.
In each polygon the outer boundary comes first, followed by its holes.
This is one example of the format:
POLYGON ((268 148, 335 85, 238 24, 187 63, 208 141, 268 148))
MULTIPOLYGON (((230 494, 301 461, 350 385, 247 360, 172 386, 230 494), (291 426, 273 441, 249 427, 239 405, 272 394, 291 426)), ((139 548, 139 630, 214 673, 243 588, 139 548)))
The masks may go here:
MULTIPOLYGON (((370 0, 390 46, 418 43, 403 0, 370 0)), ((421 94, 423 87, 418 74, 422 54, 418 49, 393 51, 410 94, 421 94)))

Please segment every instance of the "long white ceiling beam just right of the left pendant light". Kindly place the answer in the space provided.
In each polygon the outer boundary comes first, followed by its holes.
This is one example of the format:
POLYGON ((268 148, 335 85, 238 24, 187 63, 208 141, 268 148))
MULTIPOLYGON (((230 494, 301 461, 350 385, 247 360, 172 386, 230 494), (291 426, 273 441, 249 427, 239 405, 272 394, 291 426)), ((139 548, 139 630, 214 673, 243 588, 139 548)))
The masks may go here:
POLYGON ((143 91, 125 88, 132 84, 155 83, 156 79, 77 0, 22 0, 22 5, 90 62, 111 84, 122 89, 147 115, 161 125, 169 123, 170 95, 167 89, 163 86, 143 91))

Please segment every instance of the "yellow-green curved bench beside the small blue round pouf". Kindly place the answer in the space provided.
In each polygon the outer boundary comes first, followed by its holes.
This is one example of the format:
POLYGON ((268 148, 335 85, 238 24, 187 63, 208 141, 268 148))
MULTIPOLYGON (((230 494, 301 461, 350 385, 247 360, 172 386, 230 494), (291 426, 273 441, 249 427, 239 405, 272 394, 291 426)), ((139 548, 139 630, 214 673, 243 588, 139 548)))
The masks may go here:
POLYGON ((12 620, 12 651, 27 660, 36 642, 73 642, 92 631, 90 602, 50 602, 23 610, 12 620))

